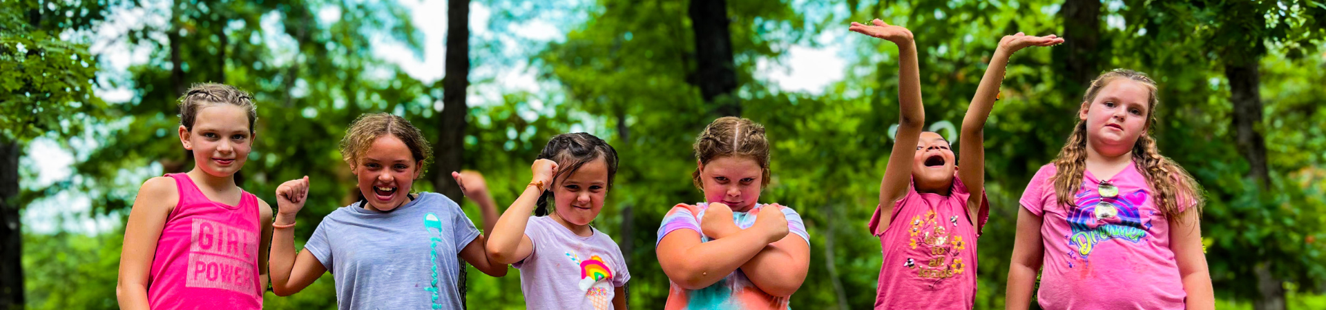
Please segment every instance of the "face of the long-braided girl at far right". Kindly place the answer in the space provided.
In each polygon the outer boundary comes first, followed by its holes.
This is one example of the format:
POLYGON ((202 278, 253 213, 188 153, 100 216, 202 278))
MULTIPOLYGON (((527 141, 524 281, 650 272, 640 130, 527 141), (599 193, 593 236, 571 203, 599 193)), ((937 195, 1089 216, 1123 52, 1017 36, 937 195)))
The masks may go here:
POLYGON ((1087 144, 1106 156, 1131 151, 1138 136, 1146 134, 1150 101, 1151 89, 1138 81, 1119 78, 1101 87, 1078 111, 1086 122, 1087 144))

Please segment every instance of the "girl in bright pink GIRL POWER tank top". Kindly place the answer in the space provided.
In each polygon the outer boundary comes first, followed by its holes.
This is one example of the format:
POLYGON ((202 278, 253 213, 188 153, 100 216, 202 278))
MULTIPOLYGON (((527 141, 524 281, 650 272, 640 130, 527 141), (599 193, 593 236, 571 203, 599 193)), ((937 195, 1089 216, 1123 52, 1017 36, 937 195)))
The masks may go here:
POLYGON ((253 102, 228 85, 180 99, 188 174, 149 179, 125 227, 121 309, 261 309, 272 208, 235 185, 252 147, 253 102))

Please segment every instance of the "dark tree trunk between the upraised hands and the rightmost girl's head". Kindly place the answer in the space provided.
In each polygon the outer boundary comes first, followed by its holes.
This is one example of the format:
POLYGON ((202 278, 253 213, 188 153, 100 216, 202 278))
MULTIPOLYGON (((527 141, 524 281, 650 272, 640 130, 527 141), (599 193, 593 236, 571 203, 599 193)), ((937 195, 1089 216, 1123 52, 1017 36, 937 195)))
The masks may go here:
POLYGON ((1062 37, 1071 40, 1065 40, 1063 46, 1052 49, 1052 53, 1054 64, 1062 66, 1059 70, 1073 82, 1073 87, 1063 90, 1070 94, 1067 102, 1078 103, 1091 79, 1101 73, 1101 64, 1106 64, 1099 52, 1101 0, 1065 0, 1059 17, 1063 23, 1062 37))

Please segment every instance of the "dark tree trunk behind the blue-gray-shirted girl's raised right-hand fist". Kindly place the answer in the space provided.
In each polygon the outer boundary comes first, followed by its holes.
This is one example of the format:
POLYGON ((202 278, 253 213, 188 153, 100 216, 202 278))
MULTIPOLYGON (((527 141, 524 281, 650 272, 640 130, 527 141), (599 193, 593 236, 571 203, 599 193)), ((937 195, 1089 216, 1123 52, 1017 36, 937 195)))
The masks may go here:
MULTIPOLYGON (((460 171, 464 163, 465 143, 465 87, 469 86, 469 0, 447 1, 447 72, 442 78, 442 129, 438 144, 438 159, 434 162, 434 187, 451 200, 461 201, 463 193, 452 171, 460 171)), ((460 261, 460 307, 468 309, 465 294, 468 272, 464 260, 460 261)))

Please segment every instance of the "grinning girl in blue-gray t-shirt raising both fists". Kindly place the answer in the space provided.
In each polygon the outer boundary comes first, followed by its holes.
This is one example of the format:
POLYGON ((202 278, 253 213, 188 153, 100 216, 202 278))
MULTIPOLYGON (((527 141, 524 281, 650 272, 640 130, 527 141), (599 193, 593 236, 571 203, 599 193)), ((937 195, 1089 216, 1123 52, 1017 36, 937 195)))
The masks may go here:
MULTIPOLYGON (((460 205, 439 193, 410 193, 430 152, 427 139, 404 118, 355 119, 341 155, 362 199, 324 217, 298 256, 290 228, 308 199, 309 178, 281 184, 269 260, 273 293, 298 293, 330 272, 339 309, 461 309, 457 257, 489 276, 505 276, 505 264, 488 258, 484 236, 460 205)), ((491 197, 477 203, 485 216, 496 215, 491 197)), ((492 224, 485 227, 492 231, 492 224)))

